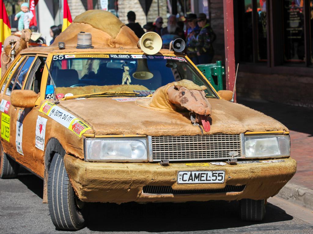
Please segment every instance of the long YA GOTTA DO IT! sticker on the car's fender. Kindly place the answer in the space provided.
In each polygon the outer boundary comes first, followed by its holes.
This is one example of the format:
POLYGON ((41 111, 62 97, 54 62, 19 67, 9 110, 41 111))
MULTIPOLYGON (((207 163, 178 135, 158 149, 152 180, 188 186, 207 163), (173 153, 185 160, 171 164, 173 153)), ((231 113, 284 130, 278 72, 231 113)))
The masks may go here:
POLYGON ((46 101, 40 107, 39 112, 48 115, 51 119, 54 119, 59 124, 62 124, 64 127, 68 128, 79 137, 81 137, 86 130, 90 129, 86 123, 76 118, 76 116, 70 114, 66 110, 63 110, 59 106, 54 105, 49 101, 46 101))

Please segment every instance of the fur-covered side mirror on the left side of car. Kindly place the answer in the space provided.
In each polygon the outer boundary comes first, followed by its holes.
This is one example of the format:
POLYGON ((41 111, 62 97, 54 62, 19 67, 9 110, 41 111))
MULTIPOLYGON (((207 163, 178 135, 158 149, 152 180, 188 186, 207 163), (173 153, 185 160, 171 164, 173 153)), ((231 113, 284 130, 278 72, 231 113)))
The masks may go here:
POLYGON ((13 90, 10 102, 14 107, 33 108, 39 96, 33 90, 13 90))

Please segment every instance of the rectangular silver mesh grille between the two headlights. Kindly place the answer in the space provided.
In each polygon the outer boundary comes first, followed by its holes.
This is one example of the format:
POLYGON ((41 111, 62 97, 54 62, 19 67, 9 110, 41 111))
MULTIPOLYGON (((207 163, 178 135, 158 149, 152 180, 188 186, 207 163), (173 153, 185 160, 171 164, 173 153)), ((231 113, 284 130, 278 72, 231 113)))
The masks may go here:
POLYGON ((231 151, 235 158, 242 156, 243 134, 213 134, 203 136, 152 136, 152 160, 171 161, 228 159, 231 151))

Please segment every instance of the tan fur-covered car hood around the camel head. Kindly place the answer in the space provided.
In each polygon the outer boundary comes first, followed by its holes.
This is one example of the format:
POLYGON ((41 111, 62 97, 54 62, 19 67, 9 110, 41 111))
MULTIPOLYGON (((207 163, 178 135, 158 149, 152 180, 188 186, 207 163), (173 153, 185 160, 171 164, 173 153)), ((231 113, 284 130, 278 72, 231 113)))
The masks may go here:
MULTIPOLYGON (((150 98, 141 100, 147 105, 150 102, 150 98)), ((210 98, 209 102, 212 105, 212 124, 210 131, 204 134, 288 131, 275 119, 244 105, 214 98, 210 98)), ((154 110, 138 106, 135 101, 118 102, 113 98, 65 100, 60 101, 59 106, 75 113, 94 130, 95 134, 99 135, 182 136, 201 134, 199 127, 190 123, 188 112, 154 110)), ((89 132, 91 130, 88 130, 89 132)))

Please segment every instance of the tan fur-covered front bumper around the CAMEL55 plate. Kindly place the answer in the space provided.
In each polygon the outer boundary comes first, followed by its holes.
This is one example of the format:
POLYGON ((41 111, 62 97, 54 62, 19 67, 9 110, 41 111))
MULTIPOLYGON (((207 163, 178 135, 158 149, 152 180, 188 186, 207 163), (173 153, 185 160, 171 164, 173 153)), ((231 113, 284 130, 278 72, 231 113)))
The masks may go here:
POLYGON ((186 163, 90 163, 64 156, 64 164, 76 195, 86 202, 187 202, 208 200, 254 200, 276 195, 292 178, 296 161, 284 158, 279 163, 251 163, 217 166, 192 166, 186 163), (177 184, 177 171, 225 170, 221 184, 177 184), (226 185, 246 185, 241 192, 206 194, 157 194, 142 192, 146 185, 171 186, 173 190, 222 189, 226 185))

